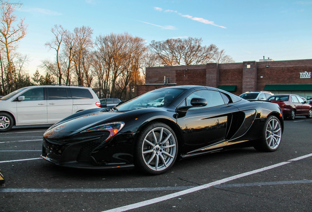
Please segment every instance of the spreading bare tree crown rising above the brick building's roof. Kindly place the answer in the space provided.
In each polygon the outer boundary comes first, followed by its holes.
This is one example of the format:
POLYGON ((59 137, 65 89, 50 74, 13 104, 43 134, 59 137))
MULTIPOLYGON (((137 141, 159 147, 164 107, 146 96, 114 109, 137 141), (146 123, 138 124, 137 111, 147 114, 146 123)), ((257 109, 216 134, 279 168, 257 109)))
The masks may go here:
POLYGON ((150 51, 166 65, 198 65, 211 62, 218 48, 213 44, 203 46, 201 38, 188 37, 152 41, 150 51))

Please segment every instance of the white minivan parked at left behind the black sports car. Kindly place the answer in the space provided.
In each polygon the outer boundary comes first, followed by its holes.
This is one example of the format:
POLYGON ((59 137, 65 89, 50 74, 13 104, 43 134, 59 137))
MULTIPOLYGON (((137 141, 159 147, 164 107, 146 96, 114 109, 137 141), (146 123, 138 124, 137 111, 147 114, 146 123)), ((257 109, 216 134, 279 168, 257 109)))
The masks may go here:
POLYGON ((92 88, 38 85, 20 88, 0 99, 0 132, 13 126, 54 124, 85 109, 101 107, 92 88))

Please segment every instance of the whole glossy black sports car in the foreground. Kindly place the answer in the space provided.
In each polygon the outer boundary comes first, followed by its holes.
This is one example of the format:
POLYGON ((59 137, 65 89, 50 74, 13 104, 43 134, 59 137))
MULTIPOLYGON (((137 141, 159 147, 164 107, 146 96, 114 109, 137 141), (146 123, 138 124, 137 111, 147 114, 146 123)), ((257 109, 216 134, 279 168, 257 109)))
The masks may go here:
POLYGON ((137 166, 160 174, 176 159, 238 145, 275 151, 283 128, 277 104, 212 87, 173 86, 68 116, 44 133, 41 157, 68 167, 137 166))

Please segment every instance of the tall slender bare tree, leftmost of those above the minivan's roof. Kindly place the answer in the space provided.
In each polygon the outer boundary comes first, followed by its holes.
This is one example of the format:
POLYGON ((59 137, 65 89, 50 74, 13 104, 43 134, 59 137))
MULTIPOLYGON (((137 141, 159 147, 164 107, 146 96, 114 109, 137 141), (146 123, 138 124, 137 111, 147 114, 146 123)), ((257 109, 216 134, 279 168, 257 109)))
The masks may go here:
MULTIPOLYGON (((57 71, 58 74, 56 75, 58 78, 58 83, 62 84, 62 69, 60 64, 60 49, 61 45, 64 39, 64 36, 66 34, 66 29, 64 29, 61 25, 54 25, 54 28, 51 29, 51 32, 54 35, 54 39, 50 42, 47 42, 45 45, 48 46, 50 49, 54 49, 56 52, 56 68, 57 70, 54 70, 52 73, 55 74, 57 71)), ((48 64, 47 64, 48 65, 48 64)), ((47 66, 46 65, 46 66, 47 66)))

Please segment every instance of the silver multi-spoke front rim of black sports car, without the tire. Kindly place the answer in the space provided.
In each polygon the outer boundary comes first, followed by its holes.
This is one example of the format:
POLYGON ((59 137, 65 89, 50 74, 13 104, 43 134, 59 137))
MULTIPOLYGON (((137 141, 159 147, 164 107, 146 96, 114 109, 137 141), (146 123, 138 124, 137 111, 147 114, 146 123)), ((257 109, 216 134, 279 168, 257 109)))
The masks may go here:
POLYGON ((153 171, 162 171, 175 160, 177 143, 164 127, 153 128, 143 140, 141 153, 144 163, 153 171))

